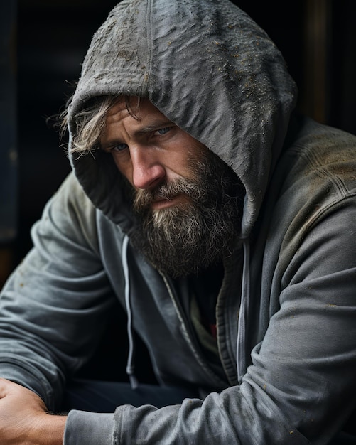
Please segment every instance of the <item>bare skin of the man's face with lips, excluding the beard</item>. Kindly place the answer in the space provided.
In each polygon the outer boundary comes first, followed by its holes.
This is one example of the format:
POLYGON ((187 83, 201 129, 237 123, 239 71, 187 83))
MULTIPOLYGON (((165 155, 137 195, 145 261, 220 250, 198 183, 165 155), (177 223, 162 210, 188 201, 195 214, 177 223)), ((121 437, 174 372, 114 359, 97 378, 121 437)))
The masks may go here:
MULTIPOLYGON (((130 104, 135 103, 137 98, 131 98, 130 104)), ((163 182, 193 179, 190 166, 207 148, 169 121, 147 99, 141 99, 132 113, 124 99, 109 110, 100 146, 112 154, 117 168, 136 192, 153 190, 163 182)), ((169 199, 160 197, 153 200, 151 208, 160 210, 185 200, 184 194, 169 199)))

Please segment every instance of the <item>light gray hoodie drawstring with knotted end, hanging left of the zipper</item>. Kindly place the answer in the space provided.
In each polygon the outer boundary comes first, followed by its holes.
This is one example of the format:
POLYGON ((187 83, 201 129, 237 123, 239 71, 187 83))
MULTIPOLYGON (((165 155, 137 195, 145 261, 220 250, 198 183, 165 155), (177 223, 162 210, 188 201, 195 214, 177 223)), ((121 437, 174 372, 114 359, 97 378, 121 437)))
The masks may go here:
POLYGON ((132 314, 131 314, 131 302, 130 302, 130 280, 129 280, 129 266, 127 264, 127 245, 129 244, 129 237, 124 236, 122 242, 122 268, 124 269, 125 277, 125 304, 127 312, 127 336, 129 337, 129 355, 127 358, 126 374, 129 376, 130 385, 133 390, 139 386, 139 382, 134 375, 134 336, 132 333, 132 314))

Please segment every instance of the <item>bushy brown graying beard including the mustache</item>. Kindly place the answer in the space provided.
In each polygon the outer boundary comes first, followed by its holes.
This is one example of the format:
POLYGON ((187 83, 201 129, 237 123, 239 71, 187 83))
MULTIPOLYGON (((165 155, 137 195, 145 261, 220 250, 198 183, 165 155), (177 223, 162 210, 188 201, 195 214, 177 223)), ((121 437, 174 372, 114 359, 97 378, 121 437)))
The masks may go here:
POLYGON ((232 254, 239 237, 244 187, 232 168, 207 151, 190 161, 194 180, 180 178, 136 191, 131 242, 172 278, 196 274, 232 254), (185 197, 153 210, 154 200, 185 197))

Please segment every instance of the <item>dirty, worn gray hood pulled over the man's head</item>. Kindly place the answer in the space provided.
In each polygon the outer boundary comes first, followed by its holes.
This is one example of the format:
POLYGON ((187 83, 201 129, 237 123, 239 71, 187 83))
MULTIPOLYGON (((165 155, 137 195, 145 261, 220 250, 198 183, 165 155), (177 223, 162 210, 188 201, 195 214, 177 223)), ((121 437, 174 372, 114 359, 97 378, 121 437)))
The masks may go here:
MULTIPOLYGON (((232 167, 249 235, 284 142, 296 86, 276 45, 228 0, 123 0, 92 38, 68 107, 100 95, 147 97, 232 167)), ((69 147, 70 148, 70 147, 69 147)), ((124 222, 120 173, 95 152, 70 162, 92 203, 124 222)), ((126 212, 128 209, 126 208, 126 212)))

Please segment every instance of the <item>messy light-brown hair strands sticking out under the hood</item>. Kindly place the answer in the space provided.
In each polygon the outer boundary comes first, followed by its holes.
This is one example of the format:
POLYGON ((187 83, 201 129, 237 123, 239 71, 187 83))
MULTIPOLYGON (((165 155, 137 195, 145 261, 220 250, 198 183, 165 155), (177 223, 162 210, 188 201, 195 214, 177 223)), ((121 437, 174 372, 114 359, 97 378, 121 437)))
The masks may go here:
MULTIPOLYGON (((126 109, 135 119, 139 119, 133 111, 131 97, 128 96, 97 96, 87 102, 87 106, 72 118, 75 131, 72 134, 71 152, 87 154, 95 151, 98 147, 99 137, 105 127, 105 118, 109 109, 124 97, 126 109)), ((70 101, 68 101, 69 104, 70 101)), ((140 98, 137 97, 136 107, 139 107, 140 98)), ((137 109, 136 108, 136 109, 137 109)), ((68 129, 68 106, 65 111, 58 114, 58 127, 62 137, 68 129)))

